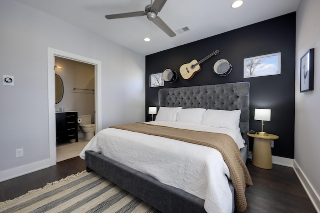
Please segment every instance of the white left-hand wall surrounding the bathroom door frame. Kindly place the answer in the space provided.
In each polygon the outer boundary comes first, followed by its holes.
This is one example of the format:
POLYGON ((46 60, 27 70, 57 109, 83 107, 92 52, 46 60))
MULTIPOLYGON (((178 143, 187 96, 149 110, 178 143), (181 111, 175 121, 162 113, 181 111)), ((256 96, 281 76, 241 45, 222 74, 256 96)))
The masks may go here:
POLYGON ((0 29, 1 80, 14 76, 0 83, 0 181, 49 166, 47 47, 101 61, 102 128, 144 121, 143 55, 13 0, 0 1, 0 29))

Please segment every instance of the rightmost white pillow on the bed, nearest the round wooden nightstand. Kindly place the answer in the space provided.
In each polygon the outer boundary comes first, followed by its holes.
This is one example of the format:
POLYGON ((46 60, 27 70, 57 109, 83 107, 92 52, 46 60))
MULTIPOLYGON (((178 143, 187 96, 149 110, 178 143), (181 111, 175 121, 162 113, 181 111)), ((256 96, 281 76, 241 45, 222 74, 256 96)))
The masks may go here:
POLYGON ((241 110, 208 109, 203 114, 202 125, 236 129, 239 127, 241 110))

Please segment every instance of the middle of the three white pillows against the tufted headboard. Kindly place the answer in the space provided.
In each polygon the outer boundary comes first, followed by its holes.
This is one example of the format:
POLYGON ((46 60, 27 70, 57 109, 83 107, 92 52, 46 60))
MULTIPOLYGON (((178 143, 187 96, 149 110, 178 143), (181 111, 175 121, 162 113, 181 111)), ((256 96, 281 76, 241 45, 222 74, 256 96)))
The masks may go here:
POLYGON ((200 124, 205 110, 202 108, 180 109, 176 121, 200 124))

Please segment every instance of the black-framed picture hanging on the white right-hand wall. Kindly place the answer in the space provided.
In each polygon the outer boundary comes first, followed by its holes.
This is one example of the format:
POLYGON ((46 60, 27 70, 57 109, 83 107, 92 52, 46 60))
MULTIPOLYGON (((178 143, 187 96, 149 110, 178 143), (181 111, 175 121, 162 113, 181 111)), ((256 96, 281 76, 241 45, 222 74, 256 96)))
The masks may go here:
POLYGON ((309 49, 300 58, 300 92, 313 90, 314 49, 309 49))

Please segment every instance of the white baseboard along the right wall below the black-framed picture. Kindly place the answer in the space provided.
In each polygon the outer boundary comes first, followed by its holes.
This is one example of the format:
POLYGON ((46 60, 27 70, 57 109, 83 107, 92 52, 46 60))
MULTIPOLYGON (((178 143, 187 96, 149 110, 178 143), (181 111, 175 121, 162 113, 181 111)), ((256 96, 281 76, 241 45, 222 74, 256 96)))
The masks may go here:
POLYGON ((300 180, 306 194, 308 195, 313 207, 317 213, 320 213, 320 196, 316 193, 303 171, 300 169, 299 165, 293 160, 293 170, 300 180))

